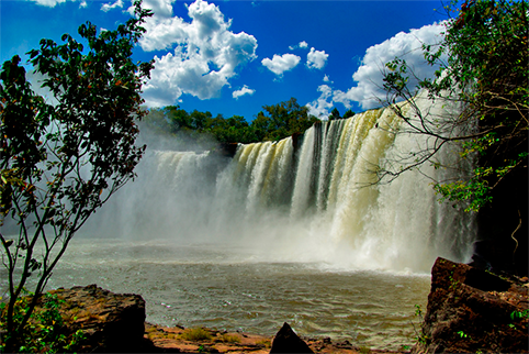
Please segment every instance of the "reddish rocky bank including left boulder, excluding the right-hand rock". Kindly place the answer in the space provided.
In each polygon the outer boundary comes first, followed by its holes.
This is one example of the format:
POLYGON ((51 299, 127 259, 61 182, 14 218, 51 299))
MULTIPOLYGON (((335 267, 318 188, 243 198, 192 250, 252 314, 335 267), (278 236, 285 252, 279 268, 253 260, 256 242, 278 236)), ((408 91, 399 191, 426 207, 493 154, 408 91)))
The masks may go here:
POLYGON ((408 353, 370 350, 329 338, 300 339, 286 323, 278 323, 275 336, 151 324, 145 322, 145 300, 140 296, 113 294, 95 285, 50 292, 63 300, 60 313, 65 333, 78 330, 85 333, 79 353, 408 353), (284 350, 291 345, 302 345, 307 351, 284 350))

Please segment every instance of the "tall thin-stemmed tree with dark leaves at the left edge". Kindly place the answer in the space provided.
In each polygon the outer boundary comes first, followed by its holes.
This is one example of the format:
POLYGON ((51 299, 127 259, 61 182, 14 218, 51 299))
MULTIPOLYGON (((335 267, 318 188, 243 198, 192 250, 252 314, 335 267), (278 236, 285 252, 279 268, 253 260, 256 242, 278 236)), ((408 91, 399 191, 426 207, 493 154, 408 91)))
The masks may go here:
POLYGON ((64 44, 42 40, 29 52, 57 103, 35 95, 14 56, 0 70, 0 241, 9 277, 5 353, 18 352, 54 267, 88 218, 126 181, 145 146, 135 146, 136 120, 145 112, 139 93, 153 63, 132 60, 151 15, 135 2, 135 18, 115 31, 87 22, 64 44), (34 276, 30 281, 30 278, 34 276), (33 297, 20 316, 24 288, 33 297))

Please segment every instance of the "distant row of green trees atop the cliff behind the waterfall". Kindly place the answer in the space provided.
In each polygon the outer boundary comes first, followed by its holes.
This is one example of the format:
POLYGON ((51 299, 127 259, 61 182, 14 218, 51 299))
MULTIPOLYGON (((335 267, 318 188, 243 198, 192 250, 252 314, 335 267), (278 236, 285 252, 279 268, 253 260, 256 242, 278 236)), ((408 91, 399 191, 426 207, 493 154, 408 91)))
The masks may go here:
MULTIPOLYGON (((192 142, 214 139, 220 143, 256 143, 278 141, 295 133, 303 133, 318 121, 301 107, 295 98, 272 106, 264 106, 251 123, 244 117, 213 118, 211 112, 194 110, 188 113, 178 106, 151 109, 146 118, 150 128, 192 142)), ((350 114, 350 113, 349 113, 350 114)), ((353 113, 352 113, 353 114, 353 113)))

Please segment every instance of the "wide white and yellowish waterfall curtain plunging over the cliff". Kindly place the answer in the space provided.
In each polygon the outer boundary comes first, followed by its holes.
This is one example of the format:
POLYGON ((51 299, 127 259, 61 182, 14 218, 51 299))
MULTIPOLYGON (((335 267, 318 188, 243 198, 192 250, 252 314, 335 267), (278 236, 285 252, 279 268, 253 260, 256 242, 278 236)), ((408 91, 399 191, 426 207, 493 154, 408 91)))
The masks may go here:
POLYGON ((105 215, 122 218, 127 226, 112 232, 127 236, 247 246, 278 262, 428 272, 437 256, 465 261, 473 218, 439 203, 431 187, 453 172, 424 164, 376 184, 379 166, 429 143, 405 130, 386 108, 317 123, 300 146, 292 137, 240 144, 233 158, 153 152, 116 198, 117 217, 105 215))

